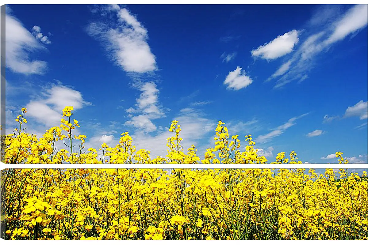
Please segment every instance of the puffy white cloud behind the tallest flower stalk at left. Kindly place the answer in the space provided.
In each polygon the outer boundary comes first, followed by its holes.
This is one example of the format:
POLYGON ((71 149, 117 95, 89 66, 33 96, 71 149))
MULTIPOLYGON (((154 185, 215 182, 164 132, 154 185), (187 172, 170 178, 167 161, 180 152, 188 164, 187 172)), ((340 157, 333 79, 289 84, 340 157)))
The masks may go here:
POLYGON ((47 127, 53 127, 60 125, 64 107, 72 106, 77 110, 85 105, 91 105, 91 103, 84 101, 79 91, 63 85, 54 85, 45 89, 40 98, 31 100, 26 108, 28 116, 47 127))

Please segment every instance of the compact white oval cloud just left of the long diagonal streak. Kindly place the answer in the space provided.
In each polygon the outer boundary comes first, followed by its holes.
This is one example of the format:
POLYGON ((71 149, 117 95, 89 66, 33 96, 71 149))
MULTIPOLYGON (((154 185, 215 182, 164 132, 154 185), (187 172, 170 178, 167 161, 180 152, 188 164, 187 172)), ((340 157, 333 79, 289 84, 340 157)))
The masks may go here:
POLYGON ((277 36, 271 42, 265 43, 255 50, 252 50, 252 56, 273 60, 289 54, 299 41, 298 34, 297 30, 291 30, 284 35, 277 36))

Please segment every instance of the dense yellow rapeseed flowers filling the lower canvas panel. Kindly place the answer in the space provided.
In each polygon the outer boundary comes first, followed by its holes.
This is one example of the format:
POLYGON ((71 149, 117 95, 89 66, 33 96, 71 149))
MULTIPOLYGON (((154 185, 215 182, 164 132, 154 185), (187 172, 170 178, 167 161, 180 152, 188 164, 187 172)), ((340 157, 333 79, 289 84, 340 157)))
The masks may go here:
POLYGON ((5 239, 367 239, 367 172, 7 169, 5 239))

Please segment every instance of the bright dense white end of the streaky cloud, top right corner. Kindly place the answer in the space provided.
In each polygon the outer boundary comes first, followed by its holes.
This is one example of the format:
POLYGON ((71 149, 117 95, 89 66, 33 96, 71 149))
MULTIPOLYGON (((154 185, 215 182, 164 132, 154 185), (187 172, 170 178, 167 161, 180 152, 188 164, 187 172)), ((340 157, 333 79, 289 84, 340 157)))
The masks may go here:
POLYGON ((335 30, 332 35, 325 41, 331 44, 344 39, 347 35, 356 32, 367 26, 368 22, 368 5, 358 4, 350 8, 344 17, 335 23, 335 30))

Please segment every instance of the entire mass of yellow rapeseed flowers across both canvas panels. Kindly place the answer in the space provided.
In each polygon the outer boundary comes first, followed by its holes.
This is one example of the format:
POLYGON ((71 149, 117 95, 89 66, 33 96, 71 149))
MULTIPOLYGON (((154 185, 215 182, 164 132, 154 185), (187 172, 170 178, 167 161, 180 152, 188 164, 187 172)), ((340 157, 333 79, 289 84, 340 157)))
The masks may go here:
MULTIPOLYGON (((119 144, 84 152, 72 107, 60 127, 38 138, 20 127, 2 142, 6 163, 267 163, 246 136, 219 122, 215 147, 201 161, 181 146, 173 121, 166 158, 136 151, 127 132, 119 144), (70 148, 56 149, 59 140, 70 148), (73 149, 79 141, 79 149, 73 149), (100 159, 98 159, 98 157, 100 159)), ((271 163, 301 163, 285 152, 271 163)), ((340 163, 347 163, 336 152, 340 163)), ((172 165, 171 165, 172 167, 172 165)), ((5 239, 367 239, 367 172, 326 169, 6 169, 1 172, 1 237, 5 239)))

